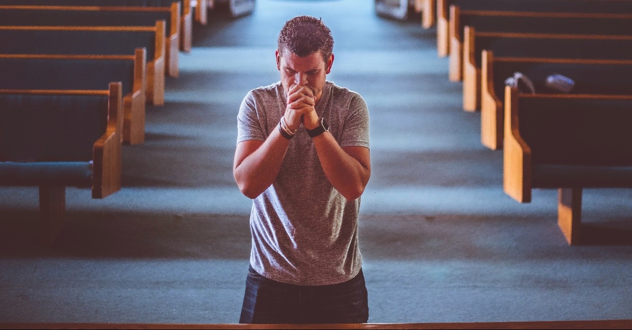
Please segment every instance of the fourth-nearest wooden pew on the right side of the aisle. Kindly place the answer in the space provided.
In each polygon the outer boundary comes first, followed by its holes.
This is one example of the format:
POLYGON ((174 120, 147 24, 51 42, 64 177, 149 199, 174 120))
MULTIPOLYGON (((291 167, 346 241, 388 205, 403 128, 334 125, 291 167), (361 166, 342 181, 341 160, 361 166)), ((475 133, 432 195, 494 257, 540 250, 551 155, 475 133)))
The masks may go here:
POLYGON ((632 14, 461 11, 450 6, 449 79, 463 78, 463 30, 480 32, 629 35, 632 14))

